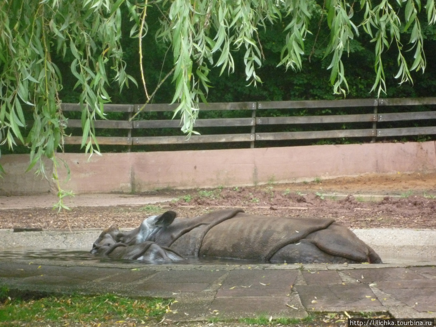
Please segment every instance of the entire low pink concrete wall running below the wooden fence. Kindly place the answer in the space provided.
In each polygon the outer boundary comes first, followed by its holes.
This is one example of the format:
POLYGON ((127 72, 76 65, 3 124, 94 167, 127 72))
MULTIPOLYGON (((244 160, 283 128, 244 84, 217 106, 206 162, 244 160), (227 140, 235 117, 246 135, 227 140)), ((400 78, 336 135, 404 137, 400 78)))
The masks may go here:
MULTIPOLYGON (((435 142, 312 145, 281 148, 108 153, 103 156, 58 154, 71 170, 62 183, 76 193, 142 192, 159 188, 231 187, 265 183, 297 182, 314 178, 354 176, 365 173, 436 171, 435 142)), ((22 156, 2 156, 13 162, 22 156)), ((5 167, 12 169, 11 165, 5 167)), ((13 170, 13 169, 12 169, 13 170)), ((61 181, 65 170, 58 169, 61 181)), ((22 171, 20 172, 22 174, 22 171)), ((0 180, 0 192, 11 175, 0 180)), ((14 173, 12 176, 19 176, 14 173)), ((17 181, 19 177, 15 177, 17 181)), ((28 183, 36 183, 22 177, 28 183)), ((21 193, 44 187, 27 187, 21 193)))

